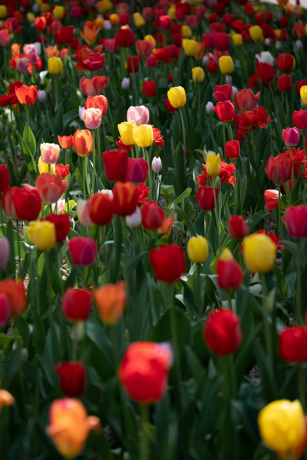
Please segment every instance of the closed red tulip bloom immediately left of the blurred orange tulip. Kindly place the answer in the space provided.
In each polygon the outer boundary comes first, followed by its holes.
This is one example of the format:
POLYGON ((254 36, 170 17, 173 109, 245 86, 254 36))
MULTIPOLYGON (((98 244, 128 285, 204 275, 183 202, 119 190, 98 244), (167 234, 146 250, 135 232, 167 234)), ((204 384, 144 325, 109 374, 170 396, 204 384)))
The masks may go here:
POLYGON ((91 305, 91 294, 86 289, 67 288, 61 301, 63 315, 71 322, 86 321, 91 305))

